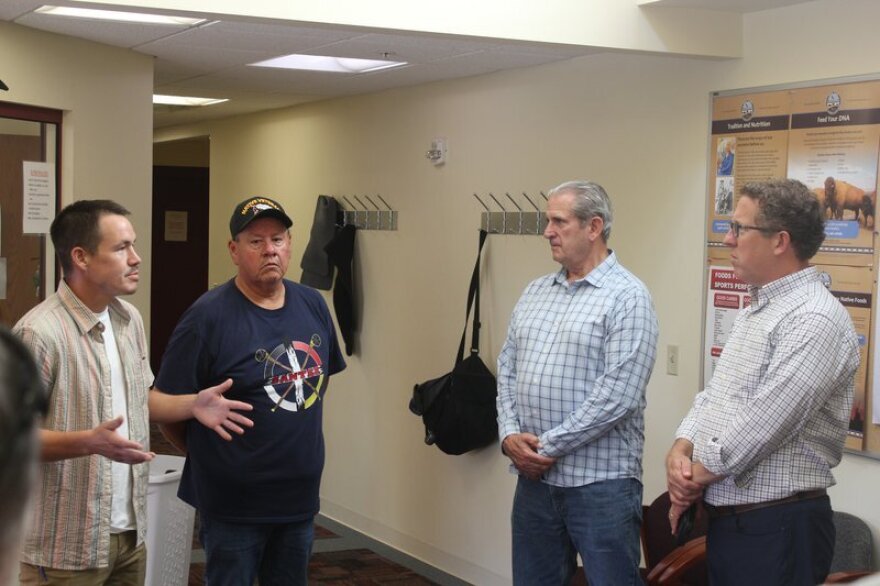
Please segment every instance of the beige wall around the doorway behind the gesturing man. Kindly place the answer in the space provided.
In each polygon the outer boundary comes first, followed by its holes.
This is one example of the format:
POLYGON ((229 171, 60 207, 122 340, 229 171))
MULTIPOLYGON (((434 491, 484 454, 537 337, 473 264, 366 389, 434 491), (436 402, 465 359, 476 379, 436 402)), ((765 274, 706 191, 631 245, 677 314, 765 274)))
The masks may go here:
POLYGON ((64 111, 63 203, 109 198, 132 212, 143 267, 131 300, 149 324, 152 59, 0 22, 0 74, 0 100, 64 111))

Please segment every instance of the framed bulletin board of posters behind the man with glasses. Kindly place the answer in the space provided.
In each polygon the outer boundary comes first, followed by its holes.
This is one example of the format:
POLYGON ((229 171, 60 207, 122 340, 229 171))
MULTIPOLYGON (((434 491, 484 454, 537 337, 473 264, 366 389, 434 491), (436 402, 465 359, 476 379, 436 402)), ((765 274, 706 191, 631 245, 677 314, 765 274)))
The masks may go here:
POLYGON ((712 95, 703 384, 712 376, 736 314, 749 303, 748 289, 734 275, 723 244, 740 187, 771 178, 797 179, 826 213, 825 242, 812 263, 849 312, 859 339, 861 363, 846 448, 880 459, 878 168, 880 79, 712 95))

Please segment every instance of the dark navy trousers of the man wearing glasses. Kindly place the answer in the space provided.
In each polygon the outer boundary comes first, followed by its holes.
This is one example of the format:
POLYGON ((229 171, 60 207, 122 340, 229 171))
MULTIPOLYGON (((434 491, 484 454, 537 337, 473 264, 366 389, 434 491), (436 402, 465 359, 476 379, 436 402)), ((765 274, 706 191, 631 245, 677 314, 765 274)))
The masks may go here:
POLYGON ((827 496, 710 519, 706 537, 713 586, 815 586, 834 554, 827 496))

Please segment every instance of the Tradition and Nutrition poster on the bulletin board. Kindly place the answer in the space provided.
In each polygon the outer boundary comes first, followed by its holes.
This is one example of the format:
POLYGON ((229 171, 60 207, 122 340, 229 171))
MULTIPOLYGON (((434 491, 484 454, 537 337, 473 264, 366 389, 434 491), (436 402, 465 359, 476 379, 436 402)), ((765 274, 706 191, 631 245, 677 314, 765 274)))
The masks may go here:
POLYGON ((723 245, 744 183, 785 176, 790 103, 788 92, 715 98, 708 190, 710 247, 723 245))

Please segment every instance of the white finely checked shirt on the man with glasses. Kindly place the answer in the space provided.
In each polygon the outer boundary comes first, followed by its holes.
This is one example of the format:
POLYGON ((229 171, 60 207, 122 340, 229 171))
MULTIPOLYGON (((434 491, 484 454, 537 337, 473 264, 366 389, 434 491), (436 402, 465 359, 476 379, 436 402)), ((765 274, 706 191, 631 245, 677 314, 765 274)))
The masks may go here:
POLYGON ((751 288, 706 389, 677 437, 725 478, 706 502, 776 500, 834 484, 849 427, 859 345, 813 267, 751 288))

